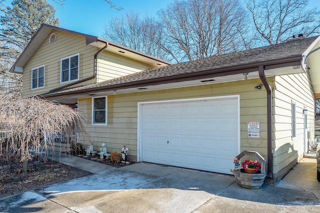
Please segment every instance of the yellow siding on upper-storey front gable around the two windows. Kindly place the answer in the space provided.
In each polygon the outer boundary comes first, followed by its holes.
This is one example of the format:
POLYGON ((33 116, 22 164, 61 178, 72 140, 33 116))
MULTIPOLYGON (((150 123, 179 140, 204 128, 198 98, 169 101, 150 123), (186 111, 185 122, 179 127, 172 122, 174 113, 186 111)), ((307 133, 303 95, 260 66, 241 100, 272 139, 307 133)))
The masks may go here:
MULTIPOLYGON (((79 53, 79 79, 93 74, 93 55, 97 48, 85 45, 85 38, 82 36, 58 30, 52 30, 51 33, 23 67, 23 96, 45 93, 63 85, 60 83, 60 59, 72 54, 79 53), (56 34, 56 41, 49 43, 52 32, 56 34), (31 90, 31 69, 41 64, 45 66, 44 88, 31 90)), ((93 82, 95 80, 81 84, 93 82)))

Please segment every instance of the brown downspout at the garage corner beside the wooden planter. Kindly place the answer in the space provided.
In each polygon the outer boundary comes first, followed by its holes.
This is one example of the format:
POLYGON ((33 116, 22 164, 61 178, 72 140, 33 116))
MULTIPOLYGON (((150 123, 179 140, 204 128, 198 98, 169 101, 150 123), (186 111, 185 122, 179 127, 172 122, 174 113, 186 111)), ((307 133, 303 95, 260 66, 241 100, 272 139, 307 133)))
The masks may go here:
POLYGON ((264 67, 262 65, 259 66, 259 77, 263 83, 264 88, 266 89, 266 107, 267 107, 267 178, 272 178, 272 170, 273 170, 273 156, 272 156, 272 88, 267 81, 264 74, 264 67))

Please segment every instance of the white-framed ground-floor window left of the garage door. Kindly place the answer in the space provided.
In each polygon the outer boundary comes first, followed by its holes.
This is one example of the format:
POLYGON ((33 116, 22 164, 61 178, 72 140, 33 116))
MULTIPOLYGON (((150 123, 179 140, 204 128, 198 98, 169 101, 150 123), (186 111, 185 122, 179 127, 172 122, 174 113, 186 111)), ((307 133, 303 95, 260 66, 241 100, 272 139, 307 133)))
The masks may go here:
POLYGON ((106 96, 92 98, 92 124, 106 125, 106 96))

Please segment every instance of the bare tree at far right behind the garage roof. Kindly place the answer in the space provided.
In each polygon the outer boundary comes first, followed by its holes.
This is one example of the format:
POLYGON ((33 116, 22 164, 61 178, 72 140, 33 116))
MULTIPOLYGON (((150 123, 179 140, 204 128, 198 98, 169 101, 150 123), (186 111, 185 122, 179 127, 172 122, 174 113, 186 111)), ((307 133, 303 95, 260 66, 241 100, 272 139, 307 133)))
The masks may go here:
POLYGON ((276 44, 294 34, 319 32, 319 11, 306 10, 307 4, 308 0, 247 0, 246 7, 261 43, 276 44))

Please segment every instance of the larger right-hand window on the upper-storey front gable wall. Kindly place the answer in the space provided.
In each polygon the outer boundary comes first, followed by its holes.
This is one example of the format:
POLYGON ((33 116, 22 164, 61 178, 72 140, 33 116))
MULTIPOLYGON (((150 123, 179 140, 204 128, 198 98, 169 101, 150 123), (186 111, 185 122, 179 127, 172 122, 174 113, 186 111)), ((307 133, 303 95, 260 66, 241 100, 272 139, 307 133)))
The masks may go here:
POLYGON ((79 79, 79 53, 61 59, 61 83, 79 79))

